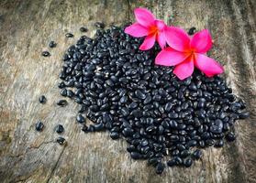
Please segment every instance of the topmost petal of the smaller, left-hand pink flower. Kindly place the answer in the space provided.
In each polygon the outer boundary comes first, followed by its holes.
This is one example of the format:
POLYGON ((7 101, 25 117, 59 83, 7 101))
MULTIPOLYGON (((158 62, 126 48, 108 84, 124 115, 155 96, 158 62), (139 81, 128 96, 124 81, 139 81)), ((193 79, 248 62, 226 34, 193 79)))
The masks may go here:
POLYGON ((136 8, 134 14, 141 26, 150 27, 154 25, 155 16, 148 9, 143 7, 136 8))

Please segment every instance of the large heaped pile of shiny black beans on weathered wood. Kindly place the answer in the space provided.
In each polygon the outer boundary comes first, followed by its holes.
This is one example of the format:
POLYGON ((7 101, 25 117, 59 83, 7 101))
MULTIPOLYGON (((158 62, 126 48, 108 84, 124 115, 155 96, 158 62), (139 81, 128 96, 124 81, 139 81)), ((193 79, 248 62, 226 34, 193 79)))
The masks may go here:
POLYGON ((130 156, 147 159, 157 174, 166 165, 190 167, 202 147, 235 140, 235 121, 249 113, 225 81, 199 70, 180 81, 173 67, 154 64, 160 48, 140 51, 141 42, 111 27, 67 49, 59 88, 81 105, 76 120, 83 132, 126 139, 130 156))

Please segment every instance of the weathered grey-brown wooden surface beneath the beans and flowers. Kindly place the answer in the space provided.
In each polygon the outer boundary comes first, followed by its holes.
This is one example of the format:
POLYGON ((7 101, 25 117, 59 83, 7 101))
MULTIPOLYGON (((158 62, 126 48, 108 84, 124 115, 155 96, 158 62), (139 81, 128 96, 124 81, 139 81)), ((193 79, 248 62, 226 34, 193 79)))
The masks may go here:
POLYGON ((0 182, 256 182, 256 3, 255 0, 1 0, 0 1, 0 182), (208 148, 192 168, 168 168, 161 176, 145 161, 131 160, 123 140, 83 134, 74 102, 56 106, 64 50, 94 22, 122 25, 132 9, 149 7, 169 24, 209 28, 210 55, 225 65, 225 78, 247 102, 250 118, 236 125, 238 140, 208 148), (75 38, 65 38, 72 32, 75 38), (51 57, 40 56, 50 40, 51 57), (39 96, 48 102, 42 105, 39 96), (39 133, 34 124, 46 128, 39 133), (56 124, 68 145, 54 143, 56 124))

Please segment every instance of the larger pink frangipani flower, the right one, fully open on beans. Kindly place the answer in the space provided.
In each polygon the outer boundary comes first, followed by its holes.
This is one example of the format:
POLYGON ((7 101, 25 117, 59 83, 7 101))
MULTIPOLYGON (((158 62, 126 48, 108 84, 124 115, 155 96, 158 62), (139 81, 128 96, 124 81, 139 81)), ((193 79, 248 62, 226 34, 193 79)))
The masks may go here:
POLYGON ((194 68, 212 77, 223 72, 222 66, 205 53, 212 47, 212 38, 207 29, 195 33, 190 38, 179 27, 166 27, 166 41, 170 48, 164 48, 157 55, 155 63, 163 66, 175 66, 173 73, 180 79, 192 75, 194 68))

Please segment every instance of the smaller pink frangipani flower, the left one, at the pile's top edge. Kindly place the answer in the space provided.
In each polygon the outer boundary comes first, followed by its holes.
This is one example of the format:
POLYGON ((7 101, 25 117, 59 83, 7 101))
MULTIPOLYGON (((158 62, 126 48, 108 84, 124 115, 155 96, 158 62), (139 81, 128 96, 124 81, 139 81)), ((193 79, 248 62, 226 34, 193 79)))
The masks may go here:
POLYGON ((134 14, 137 22, 126 27, 125 33, 135 38, 146 37, 139 49, 148 50, 152 48, 155 40, 158 41, 161 48, 164 48, 166 44, 164 36, 166 25, 164 22, 156 19, 146 8, 136 8, 134 14))

